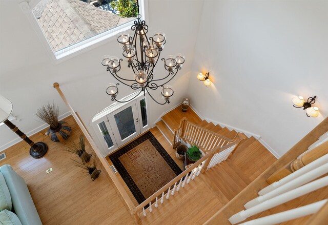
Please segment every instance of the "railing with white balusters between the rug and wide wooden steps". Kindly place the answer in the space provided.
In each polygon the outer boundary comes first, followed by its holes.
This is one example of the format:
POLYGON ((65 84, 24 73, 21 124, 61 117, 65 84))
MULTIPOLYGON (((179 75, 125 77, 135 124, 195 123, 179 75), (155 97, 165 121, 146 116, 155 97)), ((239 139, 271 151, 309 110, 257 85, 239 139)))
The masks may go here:
MULTIPOLYGON (((139 206, 137 206, 135 209, 136 214, 138 215, 142 212, 144 216, 147 216, 147 211, 151 213, 153 211, 153 207, 158 208, 159 202, 163 204, 166 199, 170 198, 170 195, 173 196, 175 192, 180 190, 180 188, 187 187, 191 180, 194 180, 197 176, 199 176, 200 172, 206 171, 214 166, 213 159, 215 155, 224 153, 224 155, 228 157, 229 154, 237 147, 239 142, 245 138, 240 134, 238 137, 238 139, 224 147, 219 146, 212 149, 207 155, 200 158, 191 167, 180 173, 177 177, 168 182, 165 186, 147 198, 144 202, 140 203, 139 206), (229 153, 227 150, 229 150, 229 153), (212 166, 210 167, 211 163, 212 166), (148 209, 145 209, 147 206, 148 209)), ((219 163, 217 160, 215 162, 219 163)))

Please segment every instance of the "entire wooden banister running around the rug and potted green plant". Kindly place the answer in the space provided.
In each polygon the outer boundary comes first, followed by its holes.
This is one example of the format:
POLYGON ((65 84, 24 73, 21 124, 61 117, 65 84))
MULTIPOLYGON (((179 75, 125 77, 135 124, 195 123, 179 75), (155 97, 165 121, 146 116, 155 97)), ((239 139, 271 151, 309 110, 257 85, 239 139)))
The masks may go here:
MULTIPOLYGON (((152 212, 153 207, 158 208, 159 203, 164 203, 165 200, 169 199, 170 196, 173 196, 181 188, 188 187, 190 181, 198 177, 201 172, 204 172, 217 165, 221 161, 227 159, 229 155, 231 155, 231 153, 236 149, 240 141, 245 138, 243 134, 238 133, 234 139, 229 139, 218 135, 210 130, 194 125, 186 118, 182 119, 179 128, 175 131, 175 134, 178 137, 184 138, 184 140, 190 141, 190 144, 200 145, 202 150, 207 154, 204 155, 197 162, 195 162, 190 168, 183 171, 181 174, 179 174, 177 177, 167 183, 167 185, 165 185, 152 196, 147 198, 144 202, 142 202, 138 206, 135 206, 132 200, 130 199, 128 193, 125 191, 120 181, 117 179, 116 175, 110 169, 108 161, 101 155, 100 150, 98 149, 94 140, 85 128, 83 122, 80 120, 76 112, 68 103, 64 93, 59 88, 59 84, 54 83, 53 87, 58 91, 60 97, 63 99, 64 103, 70 110, 78 127, 86 136, 94 153, 96 154, 101 163, 101 167, 103 167, 105 174, 108 176, 108 178, 113 181, 115 190, 123 199, 125 206, 130 211, 131 215, 134 216, 136 224, 140 222, 139 214, 141 212, 144 214, 144 216, 146 216, 147 211, 152 212), (186 128, 186 126, 188 127, 186 128)), ((177 142, 175 141, 175 144, 176 143, 177 142)))

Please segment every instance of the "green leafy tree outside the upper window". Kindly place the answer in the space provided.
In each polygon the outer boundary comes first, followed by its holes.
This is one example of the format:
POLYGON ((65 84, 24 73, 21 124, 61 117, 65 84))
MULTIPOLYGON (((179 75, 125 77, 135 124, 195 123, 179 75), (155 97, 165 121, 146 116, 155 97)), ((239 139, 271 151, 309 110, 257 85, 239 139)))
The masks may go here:
POLYGON ((122 17, 136 17, 138 15, 138 0, 112 1, 111 7, 119 12, 122 17))

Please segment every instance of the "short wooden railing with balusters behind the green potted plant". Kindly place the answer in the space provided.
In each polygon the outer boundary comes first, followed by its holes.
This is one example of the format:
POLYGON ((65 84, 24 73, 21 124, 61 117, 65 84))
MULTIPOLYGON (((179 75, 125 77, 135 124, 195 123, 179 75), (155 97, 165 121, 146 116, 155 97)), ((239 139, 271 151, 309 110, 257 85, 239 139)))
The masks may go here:
POLYGON ((212 149, 218 146, 222 147, 228 145, 237 138, 238 135, 233 139, 229 139, 211 130, 193 124, 192 122, 189 122, 186 117, 183 117, 180 121, 179 127, 174 130, 172 147, 176 148, 181 140, 183 140, 190 145, 197 145, 200 150, 205 154, 208 154, 212 149))

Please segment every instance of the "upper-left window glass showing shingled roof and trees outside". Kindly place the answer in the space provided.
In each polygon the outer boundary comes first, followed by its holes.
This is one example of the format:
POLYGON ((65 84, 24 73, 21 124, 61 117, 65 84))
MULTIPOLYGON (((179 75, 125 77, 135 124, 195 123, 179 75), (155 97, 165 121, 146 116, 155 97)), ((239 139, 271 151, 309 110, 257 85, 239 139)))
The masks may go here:
MULTIPOLYGON (((143 1, 139 2, 141 9, 143 1)), ((76 44, 92 40, 93 45, 100 34, 130 29, 138 8, 134 0, 41 0, 32 12, 58 59, 60 52, 77 48, 76 44), (119 5, 120 1, 132 4, 124 8, 119 5)))

